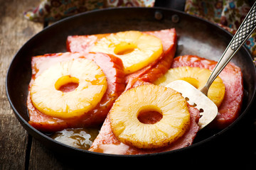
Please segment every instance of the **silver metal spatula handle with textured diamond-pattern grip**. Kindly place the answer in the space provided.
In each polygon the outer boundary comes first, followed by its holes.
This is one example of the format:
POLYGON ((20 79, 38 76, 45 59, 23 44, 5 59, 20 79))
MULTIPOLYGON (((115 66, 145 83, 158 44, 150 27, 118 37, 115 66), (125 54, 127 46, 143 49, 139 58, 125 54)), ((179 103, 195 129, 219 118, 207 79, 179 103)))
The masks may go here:
POLYGON ((224 67, 230 62, 231 58, 235 55, 236 52, 242 47, 245 43, 247 38, 252 34, 253 30, 256 28, 256 2, 253 4, 252 8, 250 9, 249 13, 245 17, 244 21, 238 28, 238 31, 235 33, 234 37, 230 41, 228 47, 226 48, 223 55, 220 57, 220 60, 216 64, 215 68, 213 69, 212 74, 206 83, 206 85, 201 89, 203 94, 208 94, 208 89, 210 85, 213 83, 218 74, 224 69, 224 67))

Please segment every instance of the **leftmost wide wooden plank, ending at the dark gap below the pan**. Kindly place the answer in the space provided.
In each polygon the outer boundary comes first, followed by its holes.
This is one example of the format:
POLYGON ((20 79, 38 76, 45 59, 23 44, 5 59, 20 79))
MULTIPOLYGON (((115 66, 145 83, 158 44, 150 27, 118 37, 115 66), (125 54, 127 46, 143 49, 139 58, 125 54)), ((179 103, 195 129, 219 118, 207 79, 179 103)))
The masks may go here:
POLYGON ((28 133, 11 110, 5 78, 18 49, 43 25, 23 18, 23 11, 36 6, 37 1, 0 0, 0 4, 0 169, 26 169, 28 133))

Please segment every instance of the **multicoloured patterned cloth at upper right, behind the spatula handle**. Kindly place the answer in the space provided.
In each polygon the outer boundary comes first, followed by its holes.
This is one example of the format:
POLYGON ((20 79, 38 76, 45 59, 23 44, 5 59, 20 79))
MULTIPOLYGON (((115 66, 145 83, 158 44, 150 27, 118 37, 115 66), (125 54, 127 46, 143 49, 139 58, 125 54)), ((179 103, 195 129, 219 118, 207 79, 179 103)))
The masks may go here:
MULTIPOLYGON (((235 34, 255 0, 186 0, 186 13, 217 23, 235 34)), ((256 65, 256 30, 245 42, 256 65)))

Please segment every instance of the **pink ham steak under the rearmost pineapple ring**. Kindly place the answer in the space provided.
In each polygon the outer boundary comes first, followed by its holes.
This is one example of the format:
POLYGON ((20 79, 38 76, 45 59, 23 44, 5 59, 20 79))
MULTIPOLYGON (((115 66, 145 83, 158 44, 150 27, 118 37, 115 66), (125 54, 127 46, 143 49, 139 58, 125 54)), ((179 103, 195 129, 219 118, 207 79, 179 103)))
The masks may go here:
MULTIPOLYGON (((126 90, 132 88, 137 81, 153 82, 164 75, 171 67, 171 62, 176 52, 177 35, 175 28, 166 30, 144 31, 143 33, 154 35, 159 38, 163 45, 163 53, 158 60, 148 66, 128 74, 125 77, 126 90)), ((90 48, 100 40, 110 34, 97 35, 70 35, 67 39, 67 50, 70 52, 90 52, 90 48)))

